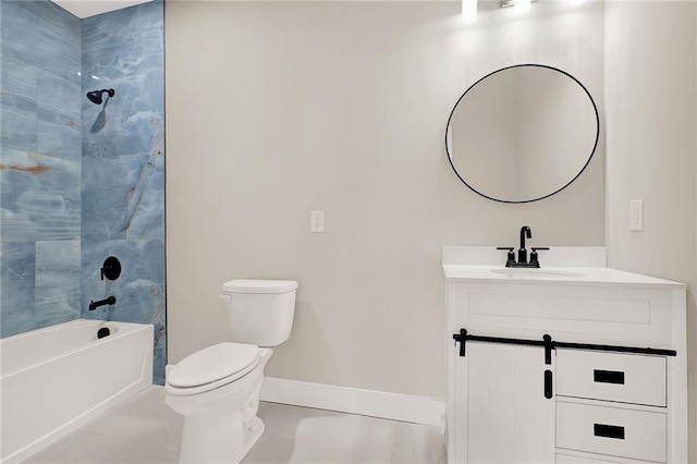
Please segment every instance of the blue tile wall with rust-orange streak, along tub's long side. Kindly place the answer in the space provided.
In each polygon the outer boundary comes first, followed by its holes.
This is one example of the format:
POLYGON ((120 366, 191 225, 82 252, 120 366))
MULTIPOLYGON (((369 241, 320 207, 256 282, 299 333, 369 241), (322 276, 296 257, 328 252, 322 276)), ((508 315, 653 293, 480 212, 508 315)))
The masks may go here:
POLYGON ((80 317, 81 21, 0 2, 0 337, 80 317))

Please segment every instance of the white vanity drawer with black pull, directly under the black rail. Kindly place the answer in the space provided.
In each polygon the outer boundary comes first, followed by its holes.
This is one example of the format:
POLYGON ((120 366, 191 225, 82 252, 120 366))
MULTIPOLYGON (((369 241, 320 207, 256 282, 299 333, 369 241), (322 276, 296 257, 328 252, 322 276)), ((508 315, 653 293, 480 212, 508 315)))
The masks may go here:
POLYGON ((557 394, 665 406, 665 357, 559 349, 557 394))

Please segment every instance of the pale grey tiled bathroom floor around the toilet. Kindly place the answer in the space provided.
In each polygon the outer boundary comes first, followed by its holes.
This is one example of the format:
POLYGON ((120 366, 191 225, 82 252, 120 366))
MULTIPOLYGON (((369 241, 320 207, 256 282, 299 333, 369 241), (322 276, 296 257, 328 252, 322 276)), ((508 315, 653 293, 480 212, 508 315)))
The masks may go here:
MULTIPOLYGON (((256 463, 444 463, 437 427, 261 403, 266 431, 244 459, 256 463)), ((183 417, 150 387, 25 463, 176 463, 183 417)))

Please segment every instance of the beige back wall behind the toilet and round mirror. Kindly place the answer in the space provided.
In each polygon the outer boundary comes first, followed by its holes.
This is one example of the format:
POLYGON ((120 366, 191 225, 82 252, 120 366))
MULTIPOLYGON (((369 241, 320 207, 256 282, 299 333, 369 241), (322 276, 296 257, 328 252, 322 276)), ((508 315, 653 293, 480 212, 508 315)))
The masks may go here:
POLYGON ((602 149, 529 205, 450 168, 452 106, 496 69, 561 68, 602 110, 601 2, 491 4, 468 27, 460 2, 166 4, 169 363, 225 340, 223 281, 297 279, 269 376, 442 398, 442 245, 603 245, 602 149))

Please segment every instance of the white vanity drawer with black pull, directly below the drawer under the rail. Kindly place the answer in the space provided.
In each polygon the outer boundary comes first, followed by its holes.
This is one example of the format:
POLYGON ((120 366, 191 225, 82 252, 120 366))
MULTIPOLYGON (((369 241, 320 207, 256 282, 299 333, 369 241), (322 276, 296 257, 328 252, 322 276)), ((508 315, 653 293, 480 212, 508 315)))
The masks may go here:
POLYGON ((558 401, 557 447, 665 462, 665 414, 558 401))

